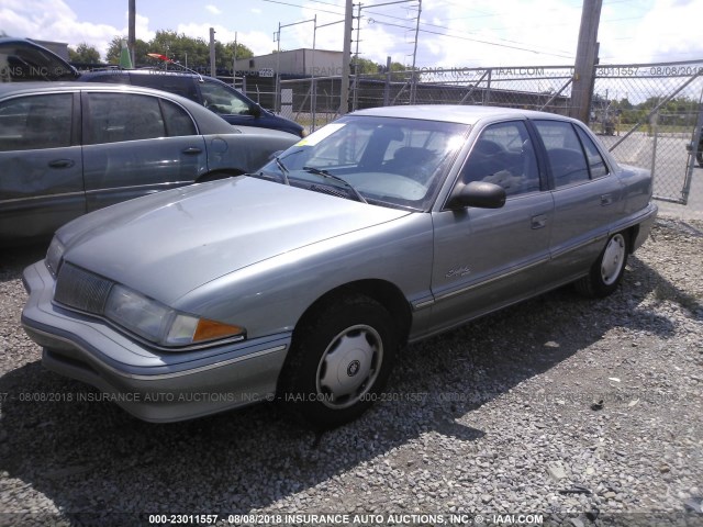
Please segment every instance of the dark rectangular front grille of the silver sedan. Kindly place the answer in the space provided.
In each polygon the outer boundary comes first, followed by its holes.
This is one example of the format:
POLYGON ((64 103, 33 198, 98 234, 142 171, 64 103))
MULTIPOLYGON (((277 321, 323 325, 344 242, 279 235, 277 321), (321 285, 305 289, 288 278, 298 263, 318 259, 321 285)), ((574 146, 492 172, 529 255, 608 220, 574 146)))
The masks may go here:
POLYGON ((112 282, 64 262, 58 271, 54 300, 67 307, 101 315, 112 289, 112 282))

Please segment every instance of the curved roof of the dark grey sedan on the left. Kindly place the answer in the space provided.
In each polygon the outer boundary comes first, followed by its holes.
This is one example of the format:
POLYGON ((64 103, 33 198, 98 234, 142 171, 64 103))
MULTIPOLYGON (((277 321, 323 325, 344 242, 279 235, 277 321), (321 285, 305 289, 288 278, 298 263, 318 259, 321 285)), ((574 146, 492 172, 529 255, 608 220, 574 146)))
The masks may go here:
POLYGON ((168 91, 156 90, 153 88, 143 88, 140 86, 130 85, 113 85, 113 83, 100 83, 100 82, 0 82, 0 98, 7 96, 21 96, 33 93, 54 93, 54 92, 67 92, 67 91, 92 91, 92 92, 129 92, 129 93, 144 93, 149 96, 157 96, 161 99, 169 99, 178 102, 185 106, 191 115, 198 121, 198 127, 201 128, 201 133, 204 134, 232 134, 238 133, 233 130, 233 126, 227 123, 220 115, 211 112, 207 108, 193 102, 185 97, 170 93, 168 91))

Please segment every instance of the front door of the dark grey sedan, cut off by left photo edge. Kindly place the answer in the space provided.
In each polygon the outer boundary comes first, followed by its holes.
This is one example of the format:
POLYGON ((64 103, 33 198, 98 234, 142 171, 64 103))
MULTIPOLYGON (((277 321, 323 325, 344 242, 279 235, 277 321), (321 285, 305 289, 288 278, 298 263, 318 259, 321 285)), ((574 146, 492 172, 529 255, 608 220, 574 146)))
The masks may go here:
POLYGON ((49 235, 86 213, 77 97, 0 101, 0 239, 49 235))

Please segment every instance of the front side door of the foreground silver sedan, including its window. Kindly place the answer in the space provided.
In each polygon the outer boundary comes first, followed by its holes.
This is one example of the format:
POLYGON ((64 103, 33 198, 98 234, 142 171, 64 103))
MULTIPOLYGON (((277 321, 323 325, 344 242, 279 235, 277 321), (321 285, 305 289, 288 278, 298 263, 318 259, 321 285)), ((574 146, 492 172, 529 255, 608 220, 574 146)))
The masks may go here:
POLYGON ((480 134, 457 184, 481 180, 505 189, 503 208, 433 214, 433 319, 444 327, 525 298, 549 280, 544 269, 554 203, 524 122, 493 124, 480 134))

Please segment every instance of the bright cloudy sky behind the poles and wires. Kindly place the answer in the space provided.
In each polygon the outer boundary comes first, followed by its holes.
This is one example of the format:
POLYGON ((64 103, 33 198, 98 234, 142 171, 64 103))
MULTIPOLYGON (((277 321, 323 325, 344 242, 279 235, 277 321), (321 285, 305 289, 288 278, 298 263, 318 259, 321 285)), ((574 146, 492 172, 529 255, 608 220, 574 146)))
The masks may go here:
MULTIPOLYGON (((355 0, 358 1, 358 0, 355 0)), ((236 41, 255 55, 312 47, 342 51, 344 0, 136 0, 136 37, 158 30, 236 41), (317 30, 313 31, 316 16, 317 30), (300 22, 300 23, 299 23, 300 22), (293 25, 294 24, 294 25, 293 25)), ((0 34, 94 46, 127 34, 127 0, 2 0, 0 34)), ((364 0, 361 58, 425 68, 573 65, 581 0, 364 0), (386 5, 381 5, 386 4, 386 5)), ((355 8, 355 14, 357 9, 355 8)), ((703 60, 703 0, 603 0, 600 64, 703 60)), ((354 32, 357 40, 357 32, 354 32)), ((352 51, 356 51, 356 42, 352 51)), ((165 53, 154 49, 155 53, 165 53)))

